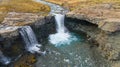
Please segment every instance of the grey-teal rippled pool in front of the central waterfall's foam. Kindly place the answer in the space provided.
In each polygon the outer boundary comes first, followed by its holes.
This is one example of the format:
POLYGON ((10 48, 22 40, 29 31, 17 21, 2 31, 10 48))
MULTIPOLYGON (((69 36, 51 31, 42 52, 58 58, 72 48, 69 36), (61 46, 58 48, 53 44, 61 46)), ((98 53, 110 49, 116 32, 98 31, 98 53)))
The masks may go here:
POLYGON ((36 67, 99 67, 95 64, 90 45, 83 35, 73 34, 77 41, 56 47, 47 42, 47 54, 39 56, 36 67))

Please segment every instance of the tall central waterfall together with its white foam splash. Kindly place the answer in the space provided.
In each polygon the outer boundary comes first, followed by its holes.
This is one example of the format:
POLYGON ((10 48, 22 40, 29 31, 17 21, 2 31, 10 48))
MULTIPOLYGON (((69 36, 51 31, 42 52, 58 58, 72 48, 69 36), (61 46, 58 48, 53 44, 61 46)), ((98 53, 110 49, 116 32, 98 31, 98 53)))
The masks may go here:
POLYGON ((64 18, 65 15, 63 14, 55 14, 57 33, 49 36, 49 41, 55 46, 70 44, 73 40, 77 40, 77 38, 72 36, 64 26, 64 18))

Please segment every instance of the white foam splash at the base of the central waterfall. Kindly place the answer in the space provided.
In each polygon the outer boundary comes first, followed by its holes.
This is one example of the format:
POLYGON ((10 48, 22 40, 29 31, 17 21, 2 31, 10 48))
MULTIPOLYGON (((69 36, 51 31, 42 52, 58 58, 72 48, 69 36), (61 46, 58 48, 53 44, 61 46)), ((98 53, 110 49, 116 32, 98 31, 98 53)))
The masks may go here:
POLYGON ((69 45, 72 41, 77 40, 76 37, 70 35, 69 33, 56 33, 49 36, 49 41, 57 46, 69 45))

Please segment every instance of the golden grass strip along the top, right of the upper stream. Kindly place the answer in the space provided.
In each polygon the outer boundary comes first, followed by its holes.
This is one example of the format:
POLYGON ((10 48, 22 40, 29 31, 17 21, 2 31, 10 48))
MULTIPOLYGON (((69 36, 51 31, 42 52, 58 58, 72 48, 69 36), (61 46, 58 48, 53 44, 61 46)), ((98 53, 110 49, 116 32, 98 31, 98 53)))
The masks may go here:
POLYGON ((70 10, 93 6, 101 3, 116 3, 120 5, 120 0, 46 0, 55 4, 62 5, 70 10))

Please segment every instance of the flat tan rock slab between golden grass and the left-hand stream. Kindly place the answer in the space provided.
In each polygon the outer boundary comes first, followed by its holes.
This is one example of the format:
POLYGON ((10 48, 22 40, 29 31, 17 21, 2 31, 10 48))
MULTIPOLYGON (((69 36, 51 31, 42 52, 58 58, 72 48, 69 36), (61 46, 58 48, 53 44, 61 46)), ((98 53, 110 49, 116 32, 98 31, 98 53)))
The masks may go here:
POLYGON ((24 25, 30 25, 40 18, 44 18, 44 17, 33 13, 10 12, 8 13, 7 17, 4 19, 2 24, 9 26, 24 26, 24 25))

